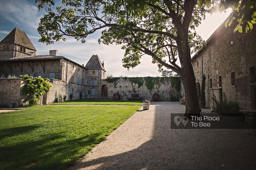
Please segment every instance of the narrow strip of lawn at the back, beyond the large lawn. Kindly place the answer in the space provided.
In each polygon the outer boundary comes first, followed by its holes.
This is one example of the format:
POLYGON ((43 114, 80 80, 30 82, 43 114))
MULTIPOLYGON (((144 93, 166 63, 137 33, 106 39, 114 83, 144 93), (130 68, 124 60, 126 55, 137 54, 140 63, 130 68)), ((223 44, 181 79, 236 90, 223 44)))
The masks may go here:
POLYGON ((142 105, 143 100, 93 100, 93 99, 82 99, 72 100, 66 102, 59 102, 53 104, 93 104, 93 105, 142 105))

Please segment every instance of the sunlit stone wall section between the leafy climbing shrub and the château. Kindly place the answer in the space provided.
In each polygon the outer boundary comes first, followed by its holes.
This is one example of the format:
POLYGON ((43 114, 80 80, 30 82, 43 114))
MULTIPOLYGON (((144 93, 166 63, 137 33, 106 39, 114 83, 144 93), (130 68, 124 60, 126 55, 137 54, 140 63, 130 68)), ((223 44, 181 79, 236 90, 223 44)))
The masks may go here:
POLYGON ((46 104, 53 103, 56 95, 66 95, 66 81, 52 79, 51 85, 50 91, 47 92, 46 104))

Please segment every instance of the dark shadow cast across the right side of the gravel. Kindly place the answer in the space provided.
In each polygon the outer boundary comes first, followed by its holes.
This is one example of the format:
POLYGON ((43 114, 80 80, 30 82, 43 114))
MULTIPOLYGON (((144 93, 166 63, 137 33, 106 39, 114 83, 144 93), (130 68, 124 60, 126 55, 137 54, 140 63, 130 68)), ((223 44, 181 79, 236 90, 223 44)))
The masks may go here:
POLYGON ((256 138, 247 135, 246 129, 173 129, 171 113, 175 111, 171 106, 168 109, 155 106, 153 135, 138 148, 89 161, 81 159, 71 169, 233 170, 256 167, 256 138))

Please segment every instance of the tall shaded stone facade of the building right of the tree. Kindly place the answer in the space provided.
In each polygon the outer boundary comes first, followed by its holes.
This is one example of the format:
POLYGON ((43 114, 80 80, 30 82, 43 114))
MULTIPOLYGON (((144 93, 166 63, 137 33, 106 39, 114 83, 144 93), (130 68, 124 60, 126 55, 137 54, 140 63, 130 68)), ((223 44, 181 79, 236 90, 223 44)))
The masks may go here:
POLYGON ((201 84, 205 74, 207 107, 212 107, 215 89, 218 100, 225 93, 240 109, 255 109, 256 29, 233 33, 234 25, 225 28, 224 24, 208 39, 207 46, 192 57, 196 80, 201 84))

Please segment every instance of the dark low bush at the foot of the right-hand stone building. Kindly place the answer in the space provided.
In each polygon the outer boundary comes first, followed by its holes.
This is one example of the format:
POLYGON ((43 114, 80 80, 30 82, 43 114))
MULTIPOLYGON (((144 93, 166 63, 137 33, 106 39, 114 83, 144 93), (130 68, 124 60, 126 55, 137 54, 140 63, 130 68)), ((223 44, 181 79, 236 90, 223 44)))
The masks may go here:
POLYGON ((237 115, 239 113, 239 107, 237 103, 228 101, 226 94, 223 92, 223 101, 219 102, 216 96, 213 96, 215 106, 213 111, 223 115, 237 115))

